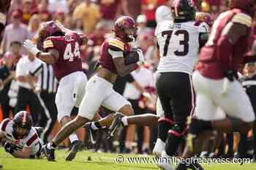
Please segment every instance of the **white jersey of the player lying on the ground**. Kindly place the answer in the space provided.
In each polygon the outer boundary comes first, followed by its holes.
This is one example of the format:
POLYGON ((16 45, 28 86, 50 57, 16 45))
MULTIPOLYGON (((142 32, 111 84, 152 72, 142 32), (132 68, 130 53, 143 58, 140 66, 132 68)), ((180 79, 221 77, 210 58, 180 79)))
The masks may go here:
POLYGON ((4 134, 9 142, 15 144, 18 150, 22 150, 23 147, 31 148, 31 155, 40 155, 40 150, 42 147, 42 140, 39 139, 37 131, 32 127, 29 134, 23 139, 15 139, 13 135, 13 125, 14 122, 10 119, 4 119, 0 125, 0 131, 4 134))

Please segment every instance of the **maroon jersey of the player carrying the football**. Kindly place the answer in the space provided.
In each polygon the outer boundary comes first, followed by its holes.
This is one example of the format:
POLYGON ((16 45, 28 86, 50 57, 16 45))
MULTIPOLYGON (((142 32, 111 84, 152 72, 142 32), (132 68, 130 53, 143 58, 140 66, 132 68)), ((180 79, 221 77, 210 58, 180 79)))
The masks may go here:
POLYGON ((118 37, 106 39, 100 47, 99 66, 108 69, 108 71, 114 74, 118 74, 113 59, 125 57, 130 50, 131 46, 118 37))

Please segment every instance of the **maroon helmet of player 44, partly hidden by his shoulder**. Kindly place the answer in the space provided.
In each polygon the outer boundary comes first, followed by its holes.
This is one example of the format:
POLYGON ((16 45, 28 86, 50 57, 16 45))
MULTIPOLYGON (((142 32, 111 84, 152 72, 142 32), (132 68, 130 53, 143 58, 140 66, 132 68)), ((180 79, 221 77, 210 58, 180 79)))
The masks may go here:
POLYGON ((64 36, 64 32, 61 31, 61 28, 56 25, 54 21, 48 21, 43 23, 42 26, 39 28, 38 37, 37 39, 37 48, 42 50, 42 44, 44 40, 49 36, 64 36))

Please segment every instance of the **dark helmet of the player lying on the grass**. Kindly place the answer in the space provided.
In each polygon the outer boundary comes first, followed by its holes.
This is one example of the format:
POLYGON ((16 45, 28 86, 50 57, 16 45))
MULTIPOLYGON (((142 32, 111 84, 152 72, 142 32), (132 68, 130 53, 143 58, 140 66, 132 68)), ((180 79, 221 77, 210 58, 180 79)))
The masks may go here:
POLYGON ((13 136, 15 136, 15 139, 23 139, 29 134, 29 131, 33 125, 33 120, 29 112, 18 112, 12 121, 14 122, 13 136))

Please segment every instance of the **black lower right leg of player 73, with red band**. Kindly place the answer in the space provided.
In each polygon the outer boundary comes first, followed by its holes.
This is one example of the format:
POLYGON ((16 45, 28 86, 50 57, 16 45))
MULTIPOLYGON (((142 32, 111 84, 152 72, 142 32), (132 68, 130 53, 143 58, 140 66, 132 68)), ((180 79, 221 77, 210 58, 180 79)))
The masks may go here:
POLYGON ((176 150, 178 149, 178 146, 181 144, 182 139, 184 139, 184 135, 187 132, 187 126, 186 125, 174 125, 173 128, 171 128, 168 131, 168 136, 166 140, 165 145, 165 152, 167 155, 173 156, 176 153, 176 150))

